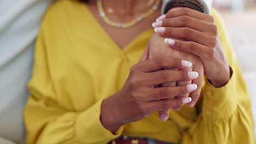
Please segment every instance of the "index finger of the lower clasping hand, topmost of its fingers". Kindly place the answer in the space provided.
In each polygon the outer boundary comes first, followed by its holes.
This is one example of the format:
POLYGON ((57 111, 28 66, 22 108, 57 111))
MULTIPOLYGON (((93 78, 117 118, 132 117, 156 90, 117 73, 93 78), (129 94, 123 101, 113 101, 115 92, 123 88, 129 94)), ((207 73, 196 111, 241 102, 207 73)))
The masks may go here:
POLYGON ((135 68, 138 68, 140 71, 144 73, 150 73, 152 71, 156 71, 162 68, 181 69, 191 67, 191 65, 191 62, 179 58, 157 57, 139 62, 135 65, 135 68))

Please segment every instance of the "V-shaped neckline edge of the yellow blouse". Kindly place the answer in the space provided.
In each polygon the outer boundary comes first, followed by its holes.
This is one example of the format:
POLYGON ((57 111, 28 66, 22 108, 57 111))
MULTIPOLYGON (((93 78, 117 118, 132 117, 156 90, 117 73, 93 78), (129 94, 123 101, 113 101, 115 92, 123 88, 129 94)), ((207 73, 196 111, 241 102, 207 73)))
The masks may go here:
POLYGON ((117 49, 117 50, 118 50, 119 52, 121 52, 121 53, 125 53, 125 52, 129 51, 129 50, 131 49, 131 47, 132 47, 134 44, 137 43, 137 41, 138 41, 139 38, 143 38, 143 37, 142 37, 143 35, 146 35, 146 34, 148 34, 148 33, 152 33, 152 32, 153 32, 153 28, 152 28, 152 29, 147 29, 146 31, 143 31, 143 32, 137 34, 137 35, 135 36, 135 38, 133 38, 131 41, 129 41, 129 43, 128 43, 127 45, 125 45, 125 46, 122 48, 122 47, 120 47, 120 46, 115 42, 115 40, 114 40, 112 37, 110 37, 109 33, 106 31, 106 29, 104 29, 104 27, 103 27, 103 26, 100 24, 100 22, 96 19, 96 17, 95 17, 94 14, 92 13, 92 11, 89 9, 89 7, 88 7, 87 4, 84 4, 84 8, 85 8, 85 10, 86 10, 85 12, 88 12, 88 13, 89 13, 89 16, 90 16, 89 19, 91 19, 92 22, 94 23, 94 24, 92 24, 92 25, 95 25, 95 26, 97 27, 96 29, 98 29, 97 31, 100 31, 101 33, 103 33, 103 34, 104 34, 103 37, 106 38, 106 40, 108 40, 108 42, 111 43, 111 44, 115 47, 115 49, 117 49))

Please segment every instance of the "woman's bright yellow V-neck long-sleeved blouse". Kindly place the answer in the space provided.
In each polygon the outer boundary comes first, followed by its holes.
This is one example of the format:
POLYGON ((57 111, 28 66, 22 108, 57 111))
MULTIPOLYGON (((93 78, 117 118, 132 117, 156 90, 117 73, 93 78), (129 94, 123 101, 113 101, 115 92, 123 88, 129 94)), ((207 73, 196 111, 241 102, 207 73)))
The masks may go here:
POLYGON ((205 81, 203 100, 160 121, 154 113, 110 133, 100 122, 102 100, 119 91, 138 62, 153 29, 121 50, 84 3, 61 0, 48 10, 36 44, 31 97, 25 108, 27 144, 104 144, 120 135, 173 143, 254 143, 251 99, 222 21, 212 11, 226 59, 228 84, 205 81))

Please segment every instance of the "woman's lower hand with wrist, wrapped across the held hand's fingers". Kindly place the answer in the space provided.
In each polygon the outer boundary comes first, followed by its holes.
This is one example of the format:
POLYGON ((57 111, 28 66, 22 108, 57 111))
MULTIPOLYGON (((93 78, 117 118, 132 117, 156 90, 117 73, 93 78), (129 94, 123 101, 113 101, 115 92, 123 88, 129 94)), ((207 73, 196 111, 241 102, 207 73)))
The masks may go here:
POLYGON ((189 71, 186 70, 157 71, 161 68, 187 68, 189 62, 172 57, 147 59, 147 53, 144 53, 141 62, 133 65, 124 87, 112 97, 103 100, 101 122, 112 132, 121 125, 139 121, 154 112, 181 107, 191 101, 188 97, 171 98, 195 91, 195 84, 152 87, 166 82, 193 80, 189 78, 189 71))

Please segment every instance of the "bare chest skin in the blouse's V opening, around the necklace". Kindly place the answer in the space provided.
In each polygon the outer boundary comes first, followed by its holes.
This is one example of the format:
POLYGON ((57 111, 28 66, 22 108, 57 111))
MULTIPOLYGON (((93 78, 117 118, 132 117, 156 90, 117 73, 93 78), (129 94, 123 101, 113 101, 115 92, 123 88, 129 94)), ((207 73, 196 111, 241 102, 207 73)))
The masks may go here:
MULTIPOLYGON (((145 7, 147 2, 147 0, 104 0, 103 7, 110 7, 114 9, 113 14, 106 13, 110 20, 114 22, 126 23, 136 19, 143 13, 146 13, 149 10, 149 7, 145 7)), ((161 14, 161 9, 159 7, 159 9, 156 10, 154 14, 150 15, 147 19, 137 23, 135 26, 129 28, 116 28, 109 26, 102 20, 98 14, 96 0, 88 1, 87 5, 95 19, 100 23, 102 28, 108 33, 109 37, 115 41, 120 49, 124 49, 125 46, 127 46, 134 38, 136 38, 137 35, 152 29, 152 23, 155 22, 155 19, 158 18, 158 16, 161 14)))

